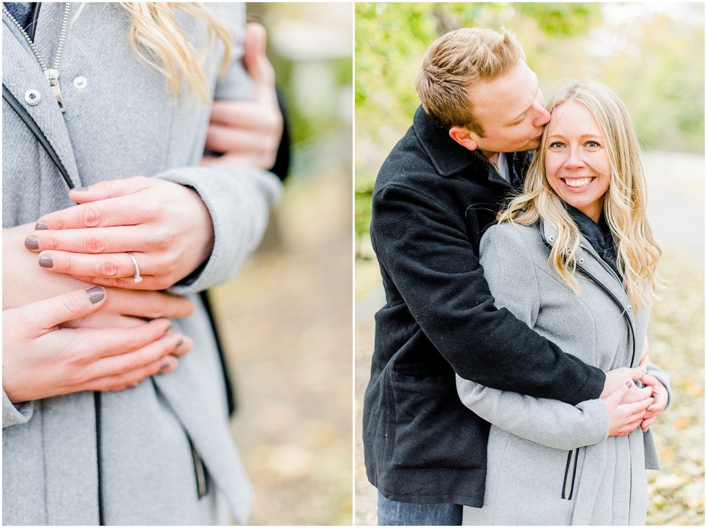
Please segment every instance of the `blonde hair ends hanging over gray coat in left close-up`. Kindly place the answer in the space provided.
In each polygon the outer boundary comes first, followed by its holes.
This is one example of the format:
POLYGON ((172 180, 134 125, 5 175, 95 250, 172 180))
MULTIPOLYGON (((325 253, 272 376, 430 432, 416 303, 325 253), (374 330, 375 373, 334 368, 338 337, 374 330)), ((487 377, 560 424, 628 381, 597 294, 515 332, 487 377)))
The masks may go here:
MULTIPOLYGON (((81 4, 74 20, 86 4, 81 4)), ((165 76, 167 88, 175 99, 186 80, 187 95, 196 95, 201 102, 209 102, 206 78, 201 62, 216 37, 223 42, 226 51, 221 59, 221 73, 230 64, 233 47, 232 37, 218 17, 199 3, 183 2, 120 2, 118 4, 129 16, 128 44, 132 52, 149 66, 165 76), (183 11, 206 23, 208 38, 206 47, 197 51, 179 21, 177 11, 183 11)))

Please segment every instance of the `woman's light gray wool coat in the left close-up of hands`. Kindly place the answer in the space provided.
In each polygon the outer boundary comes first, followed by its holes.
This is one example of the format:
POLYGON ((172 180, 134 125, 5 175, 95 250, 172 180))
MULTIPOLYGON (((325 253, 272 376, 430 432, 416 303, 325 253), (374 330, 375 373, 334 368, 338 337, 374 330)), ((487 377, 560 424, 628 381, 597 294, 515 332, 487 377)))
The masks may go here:
MULTIPOLYGON (((207 5, 240 42, 243 6, 207 5)), ((40 11, 35 44, 49 64, 63 8, 47 2, 40 11)), ((206 42, 204 25, 188 16, 180 20, 199 49, 206 42)), ((3 83, 39 124, 76 187, 144 175, 189 185, 204 200, 214 223, 214 251, 194 281, 173 288, 200 307, 192 294, 233 276, 256 247, 279 181, 251 168, 198 167, 210 107, 183 94, 175 103, 164 76, 130 52, 127 16, 117 4, 88 3, 69 28, 59 66, 64 115, 21 33, 7 16, 3 21, 3 83), (85 85, 74 85, 77 76, 86 78, 85 85), (40 93, 37 105, 25 102, 28 90, 40 93)), ((210 93, 249 97, 242 48, 235 47, 230 70, 217 81, 223 47, 211 45, 204 66, 210 93)), ((4 228, 74 205, 49 156, 6 102, 2 161, 4 228)), ((229 434, 209 319, 197 309, 173 322, 173 329, 194 340, 175 372, 102 394, 100 474, 93 393, 13 405, 3 392, 4 524, 98 524, 99 479, 105 524, 213 524, 216 491, 245 522, 252 491, 229 434), (190 442, 211 477, 201 499, 190 442)))

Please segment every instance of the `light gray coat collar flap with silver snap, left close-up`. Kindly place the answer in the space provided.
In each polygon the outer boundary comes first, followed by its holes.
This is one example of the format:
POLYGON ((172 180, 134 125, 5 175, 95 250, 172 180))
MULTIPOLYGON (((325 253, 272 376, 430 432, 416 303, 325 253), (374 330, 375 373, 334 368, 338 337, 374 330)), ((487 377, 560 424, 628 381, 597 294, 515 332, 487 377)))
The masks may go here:
MULTIPOLYGON (((60 4, 57 4, 57 6, 60 6, 60 4)), ((49 6, 45 6, 45 8, 47 7, 49 6)), ((61 17, 59 17, 59 20, 61 20, 61 17)), ((27 42, 25 42, 24 37, 8 20, 7 16, 3 16, 2 33, 3 84, 27 110, 37 123, 37 126, 45 134, 47 141, 57 152, 59 159, 62 160, 74 186, 81 187, 81 178, 78 177, 78 168, 76 168, 74 148, 71 146, 69 130, 66 128, 64 115, 59 112, 59 105, 55 102, 54 95, 49 88, 49 83, 47 83, 42 69, 37 64, 37 60, 33 56, 27 42), (25 93, 28 90, 37 90, 40 93, 40 103, 38 105, 28 105, 25 101, 25 93)), ((56 34, 58 37, 58 28, 56 34)), ((40 49, 42 49, 41 45, 40 49)), ((64 82, 66 82, 66 79, 64 82)))

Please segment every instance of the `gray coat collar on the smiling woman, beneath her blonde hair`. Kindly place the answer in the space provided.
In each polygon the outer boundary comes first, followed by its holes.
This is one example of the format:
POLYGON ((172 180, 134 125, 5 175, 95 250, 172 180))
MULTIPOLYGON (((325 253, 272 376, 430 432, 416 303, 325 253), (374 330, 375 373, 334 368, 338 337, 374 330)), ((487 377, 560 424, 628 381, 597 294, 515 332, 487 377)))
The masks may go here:
MULTIPOLYGON (((540 233, 542 240, 547 247, 552 247, 557 239, 557 230, 549 222, 540 219, 540 233)), ((578 269, 588 274, 592 280, 600 284, 621 307, 621 310, 629 319, 631 329, 636 325, 633 307, 629 300, 629 295, 624 290, 624 285, 619 282, 617 276, 609 271, 609 265, 602 261, 602 258, 594 250, 590 242, 580 233, 580 245, 576 253, 578 269)))

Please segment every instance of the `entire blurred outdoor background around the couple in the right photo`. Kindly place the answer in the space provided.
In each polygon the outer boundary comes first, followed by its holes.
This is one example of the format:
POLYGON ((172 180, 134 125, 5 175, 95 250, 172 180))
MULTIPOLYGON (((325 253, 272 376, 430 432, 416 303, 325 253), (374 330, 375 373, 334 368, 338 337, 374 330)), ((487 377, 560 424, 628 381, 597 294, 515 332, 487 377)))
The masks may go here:
POLYGON ((648 471, 648 524, 704 524, 704 4, 356 4, 356 515, 375 524, 361 408, 373 314, 385 303, 370 247, 375 175, 411 125, 415 78, 437 37, 462 27, 515 33, 546 98, 563 78, 600 81, 626 103, 643 146, 648 216, 666 287, 653 306, 650 358, 674 401, 653 426, 662 469, 648 471))

